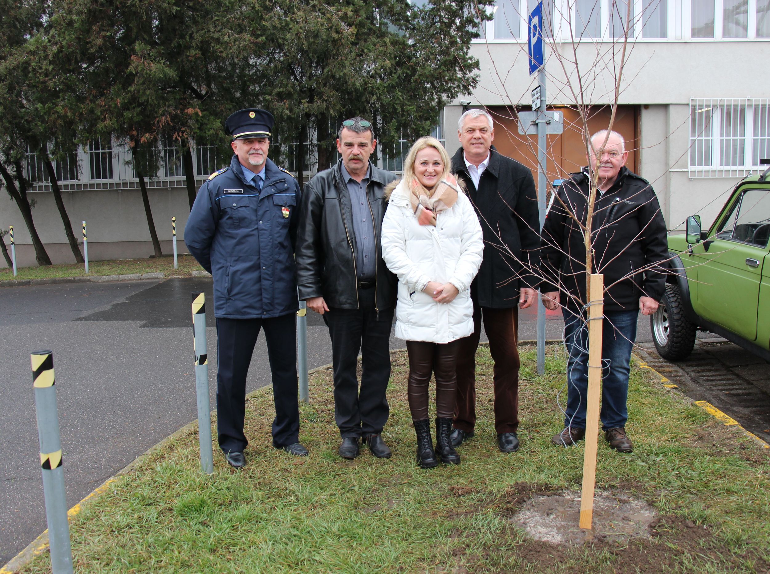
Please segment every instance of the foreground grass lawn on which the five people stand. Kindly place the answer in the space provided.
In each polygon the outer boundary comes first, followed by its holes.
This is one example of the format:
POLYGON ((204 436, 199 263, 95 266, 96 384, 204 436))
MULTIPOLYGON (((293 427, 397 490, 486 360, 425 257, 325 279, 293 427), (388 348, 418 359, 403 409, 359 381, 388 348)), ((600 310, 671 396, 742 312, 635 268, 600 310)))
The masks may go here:
MULTIPOLYGON (((648 369, 633 368, 628 432, 618 455, 600 438, 597 488, 643 498, 660 513, 651 539, 564 547, 527 539, 511 516, 537 492, 579 490, 582 446, 556 448, 556 394, 564 351, 547 349, 546 374, 522 347, 521 450, 497 451, 491 361, 478 354, 479 423, 462 464, 413 461, 406 355, 393 355, 393 458, 336 455, 330 373, 310 381, 300 439, 309 458, 270 444, 272 395, 247 404, 248 466, 216 449, 199 472, 196 431, 150 455, 72 520, 77 572, 766 572, 770 566, 770 457, 648 369)), ((194 392, 192 379, 180 392, 194 392)), ((66 461, 66 445, 65 445, 66 461)), ((65 466, 66 468, 66 466, 65 466)), ((65 470, 66 472, 66 470, 65 470)), ((65 475, 66 476, 66 475, 65 475)), ((72 501, 74 502, 74 501, 72 501)), ((576 516, 577 521, 577 516, 576 516)), ((47 555, 22 572, 48 572, 47 555)))

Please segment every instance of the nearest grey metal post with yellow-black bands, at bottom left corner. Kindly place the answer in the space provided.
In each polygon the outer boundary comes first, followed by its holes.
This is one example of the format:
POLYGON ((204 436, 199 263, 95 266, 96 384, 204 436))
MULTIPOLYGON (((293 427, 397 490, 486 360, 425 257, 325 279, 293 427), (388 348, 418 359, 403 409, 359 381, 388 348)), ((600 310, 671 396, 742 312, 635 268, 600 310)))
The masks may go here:
POLYGON ((67 501, 62 468, 62 441, 59 436, 59 409, 56 404, 52 351, 32 351, 32 387, 38 416, 40 466, 43 475, 45 518, 49 527, 51 569, 54 574, 72 572, 67 501))

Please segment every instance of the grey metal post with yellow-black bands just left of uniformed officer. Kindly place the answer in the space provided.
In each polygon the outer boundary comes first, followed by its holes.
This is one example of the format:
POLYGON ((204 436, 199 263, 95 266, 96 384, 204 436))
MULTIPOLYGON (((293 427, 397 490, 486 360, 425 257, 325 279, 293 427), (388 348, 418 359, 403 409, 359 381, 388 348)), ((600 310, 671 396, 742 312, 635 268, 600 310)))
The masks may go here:
POLYGON ((211 407, 209 406, 209 355, 206 354, 206 294, 192 294, 192 344, 195 347, 195 390, 198 398, 198 441, 200 469, 214 472, 211 448, 211 407))

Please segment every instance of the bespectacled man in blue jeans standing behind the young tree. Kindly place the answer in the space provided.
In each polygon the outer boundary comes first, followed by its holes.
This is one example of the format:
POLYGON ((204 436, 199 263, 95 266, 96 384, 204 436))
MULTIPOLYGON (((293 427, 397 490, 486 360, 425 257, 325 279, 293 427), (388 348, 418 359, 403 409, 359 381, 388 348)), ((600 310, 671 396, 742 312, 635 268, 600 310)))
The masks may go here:
POLYGON ((650 183, 625 167, 627 159, 620 134, 606 129, 594 134, 588 167, 558 188, 543 227, 541 270, 551 284, 541 289, 543 303, 548 309, 561 304, 569 354, 564 430, 551 439, 557 446, 574 445, 585 436, 588 301, 583 226, 594 177, 598 190, 591 223, 591 273, 604 274, 601 422, 611 448, 633 449, 625 432, 631 349, 638 312, 654 313, 663 296, 661 271, 668 247, 658 198, 650 183))

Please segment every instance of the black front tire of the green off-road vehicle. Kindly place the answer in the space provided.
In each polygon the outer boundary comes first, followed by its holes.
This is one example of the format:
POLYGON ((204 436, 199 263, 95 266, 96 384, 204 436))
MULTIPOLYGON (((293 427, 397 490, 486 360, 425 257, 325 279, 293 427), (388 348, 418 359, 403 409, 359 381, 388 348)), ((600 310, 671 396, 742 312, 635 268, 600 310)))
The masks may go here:
POLYGON ((698 327, 685 315, 677 285, 666 285, 658 310, 650 315, 650 327, 655 348, 667 361, 681 361, 692 352, 698 327))

